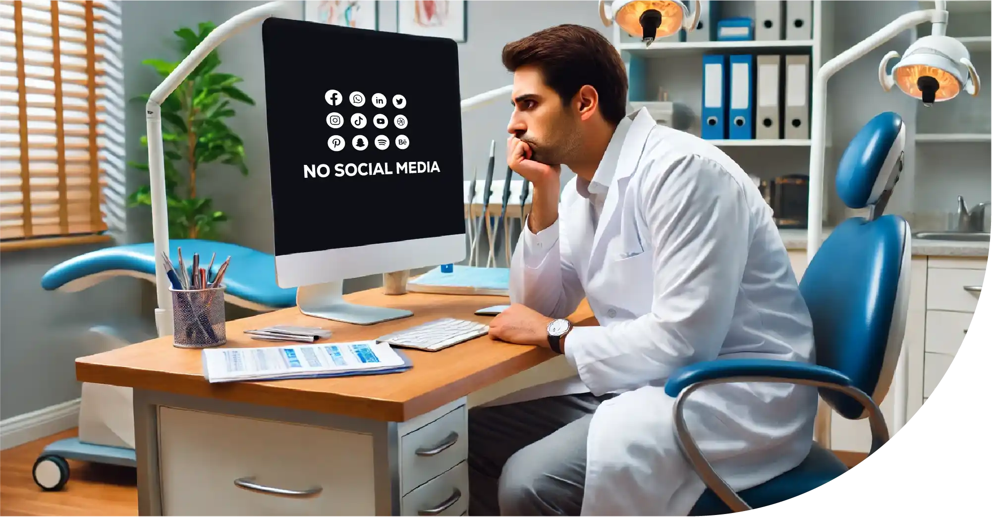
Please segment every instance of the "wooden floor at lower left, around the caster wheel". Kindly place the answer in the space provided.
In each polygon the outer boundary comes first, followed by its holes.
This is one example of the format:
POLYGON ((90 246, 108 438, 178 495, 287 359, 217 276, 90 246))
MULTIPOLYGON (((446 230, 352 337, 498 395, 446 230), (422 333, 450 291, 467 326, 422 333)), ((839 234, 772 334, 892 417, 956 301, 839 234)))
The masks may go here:
POLYGON ((68 460, 69 480, 59 492, 35 484, 31 466, 45 446, 76 435, 54 437, 0 451, 0 517, 136 517, 135 469, 68 460))

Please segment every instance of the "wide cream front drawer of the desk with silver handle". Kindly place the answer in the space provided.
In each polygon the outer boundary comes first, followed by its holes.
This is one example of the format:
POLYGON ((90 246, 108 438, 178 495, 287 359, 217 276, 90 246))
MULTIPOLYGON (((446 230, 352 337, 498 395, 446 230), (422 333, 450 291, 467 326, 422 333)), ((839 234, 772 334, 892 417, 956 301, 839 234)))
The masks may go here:
POLYGON ((159 433, 165 517, 375 515, 369 435, 165 407, 159 433), (235 485, 246 477, 261 487, 235 485))

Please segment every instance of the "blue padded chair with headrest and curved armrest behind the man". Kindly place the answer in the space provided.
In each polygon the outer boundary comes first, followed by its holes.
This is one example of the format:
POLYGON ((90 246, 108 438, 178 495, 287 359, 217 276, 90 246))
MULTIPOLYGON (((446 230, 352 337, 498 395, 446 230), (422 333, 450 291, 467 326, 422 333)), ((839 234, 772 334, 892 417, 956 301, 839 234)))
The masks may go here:
POLYGON ((903 170, 906 125, 896 113, 868 122, 840 161, 837 193, 847 206, 870 208, 867 219, 838 225, 806 269, 800 291, 812 317, 816 364, 729 359, 682 368, 665 391, 677 397, 676 438, 707 490, 690 517, 763 510, 816 491, 848 472, 835 455, 815 443, 796 468, 735 493, 699 452, 682 418, 686 398, 708 384, 785 382, 816 386, 840 416, 871 424, 869 457, 888 446, 889 433, 875 401, 885 397, 902 348, 910 293, 910 226, 898 215, 882 215, 903 170))

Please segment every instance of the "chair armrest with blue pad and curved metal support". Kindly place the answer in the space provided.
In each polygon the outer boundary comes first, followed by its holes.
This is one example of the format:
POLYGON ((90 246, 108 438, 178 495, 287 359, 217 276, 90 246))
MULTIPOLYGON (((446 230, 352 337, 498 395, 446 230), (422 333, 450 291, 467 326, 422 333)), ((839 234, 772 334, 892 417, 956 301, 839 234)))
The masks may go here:
POLYGON ((840 392, 857 400, 868 414, 872 435, 872 447, 868 457, 872 457, 890 443, 889 428, 886 426, 882 410, 871 397, 854 386, 850 378, 836 370, 776 359, 723 359, 684 366, 676 370, 665 384, 665 393, 676 399, 673 407, 676 442, 682 455, 706 487, 737 515, 751 511, 752 508, 730 488, 730 485, 703 457, 688 431, 684 415, 685 402, 695 390, 734 382, 799 384, 840 392))

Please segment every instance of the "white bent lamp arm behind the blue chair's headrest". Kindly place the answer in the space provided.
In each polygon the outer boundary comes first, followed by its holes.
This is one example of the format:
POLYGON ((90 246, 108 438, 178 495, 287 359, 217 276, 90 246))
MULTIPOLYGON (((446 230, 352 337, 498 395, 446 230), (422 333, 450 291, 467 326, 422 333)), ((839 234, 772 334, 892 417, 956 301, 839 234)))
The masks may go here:
POLYGON ((816 71, 812 82, 812 112, 809 149, 809 203, 806 215, 806 263, 819 249, 823 227, 823 155, 826 146, 826 82, 844 66, 850 65, 871 51, 892 40, 900 33, 922 23, 946 21, 947 12, 937 9, 914 11, 900 16, 892 23, 857 45, 840 53, 816 71))

